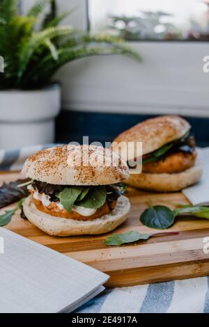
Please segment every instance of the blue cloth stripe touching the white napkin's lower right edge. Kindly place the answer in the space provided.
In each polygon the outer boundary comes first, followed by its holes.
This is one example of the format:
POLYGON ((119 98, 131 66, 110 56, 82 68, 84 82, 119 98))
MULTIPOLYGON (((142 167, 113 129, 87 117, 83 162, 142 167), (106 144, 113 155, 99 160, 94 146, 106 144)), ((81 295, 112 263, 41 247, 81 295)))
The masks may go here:
POLYGON ((111 289, 107 289, 99 296, 88 301, 80 307, 76 313, 99 313, 107 296, 111 293, 111 289))

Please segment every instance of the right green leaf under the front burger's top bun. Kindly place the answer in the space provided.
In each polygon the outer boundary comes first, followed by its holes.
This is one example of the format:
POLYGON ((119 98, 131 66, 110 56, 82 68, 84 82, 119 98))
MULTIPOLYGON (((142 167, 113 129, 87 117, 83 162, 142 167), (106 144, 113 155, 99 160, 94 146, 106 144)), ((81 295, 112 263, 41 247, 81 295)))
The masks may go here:
POLYGON ((81 201, 77 201, 76 205, 84 208, 98 209, 104 205, 107 198, 105 186, 96 186, 88 191, 88 194, 81 201))

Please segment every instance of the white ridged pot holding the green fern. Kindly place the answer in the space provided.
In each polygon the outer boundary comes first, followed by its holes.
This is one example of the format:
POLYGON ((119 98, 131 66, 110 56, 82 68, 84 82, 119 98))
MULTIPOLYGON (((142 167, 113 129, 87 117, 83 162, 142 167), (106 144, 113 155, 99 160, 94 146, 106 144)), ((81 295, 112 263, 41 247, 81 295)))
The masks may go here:
POLYGON ((54 142, 55 118, 60 109, 58 84, 41 90, 0 91, 0 148, 54 142))

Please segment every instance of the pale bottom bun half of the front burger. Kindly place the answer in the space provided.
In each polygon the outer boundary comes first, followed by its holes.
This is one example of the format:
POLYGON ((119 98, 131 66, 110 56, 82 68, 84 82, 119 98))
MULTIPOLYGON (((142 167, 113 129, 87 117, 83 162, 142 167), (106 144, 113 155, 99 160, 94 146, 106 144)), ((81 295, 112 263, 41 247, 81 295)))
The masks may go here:
POLYGON ((43 232, 53 236, 67 237, 111 232, 127 219, 130 213, 130 201, 125 196, 121 196, 118 198, 116 207, 109 214, 91 221, 76 221, 40 212, 31 196, 24 201, 23 209, 26 218, 43 232))

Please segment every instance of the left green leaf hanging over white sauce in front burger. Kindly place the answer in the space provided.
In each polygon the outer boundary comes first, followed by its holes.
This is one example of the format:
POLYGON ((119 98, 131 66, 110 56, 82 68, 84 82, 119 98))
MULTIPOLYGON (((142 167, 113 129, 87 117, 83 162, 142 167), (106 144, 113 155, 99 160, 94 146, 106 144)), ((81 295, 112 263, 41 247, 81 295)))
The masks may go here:
POLYGON ((65 210, 72 212, 72 206, 77 200, 77 197, 82 193, 83 189, 84 187, 75 186, 65 188, 63 191, 57 194, 57 197, 59 198, 61 205, 63 205, 65 210))

